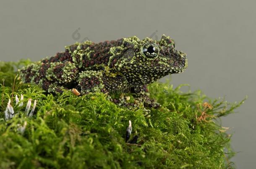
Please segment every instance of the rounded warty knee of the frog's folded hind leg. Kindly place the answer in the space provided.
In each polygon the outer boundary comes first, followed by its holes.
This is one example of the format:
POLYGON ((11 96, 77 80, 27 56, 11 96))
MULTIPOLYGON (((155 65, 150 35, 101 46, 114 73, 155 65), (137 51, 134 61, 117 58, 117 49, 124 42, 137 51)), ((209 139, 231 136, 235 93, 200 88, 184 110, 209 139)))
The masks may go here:
POLYGON ((57 81, 58 83, 67 84, 73 81, 78 75, 78 69, 71 62, 54 62, 50 63, 50 68, 46 72, 46 78, 49 81, 57 81))

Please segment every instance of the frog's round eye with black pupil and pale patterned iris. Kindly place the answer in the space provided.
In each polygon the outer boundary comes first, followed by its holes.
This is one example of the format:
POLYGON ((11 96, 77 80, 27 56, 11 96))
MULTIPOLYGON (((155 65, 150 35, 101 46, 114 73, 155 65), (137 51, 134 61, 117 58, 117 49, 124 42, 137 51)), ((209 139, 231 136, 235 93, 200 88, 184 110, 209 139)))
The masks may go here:
POLYGON ((148 42, 142 46, 141 52, 146 56, 146 58, 154 59, 158 56, 159 48, 157 44, 148 42))

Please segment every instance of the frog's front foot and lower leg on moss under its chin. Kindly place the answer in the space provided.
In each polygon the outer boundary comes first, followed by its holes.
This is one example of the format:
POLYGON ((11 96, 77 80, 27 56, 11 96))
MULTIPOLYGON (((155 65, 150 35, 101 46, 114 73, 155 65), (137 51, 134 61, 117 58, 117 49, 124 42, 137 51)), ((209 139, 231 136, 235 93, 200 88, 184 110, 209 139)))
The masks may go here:
POLYGON ((140 103, 144 103, 145 107, 157 108, 160 104, 153 98, 150 98, 150 93, 146 88, 146 85, 137 85, 131 88, 131 93, 134 95, 134 99, 140 103))

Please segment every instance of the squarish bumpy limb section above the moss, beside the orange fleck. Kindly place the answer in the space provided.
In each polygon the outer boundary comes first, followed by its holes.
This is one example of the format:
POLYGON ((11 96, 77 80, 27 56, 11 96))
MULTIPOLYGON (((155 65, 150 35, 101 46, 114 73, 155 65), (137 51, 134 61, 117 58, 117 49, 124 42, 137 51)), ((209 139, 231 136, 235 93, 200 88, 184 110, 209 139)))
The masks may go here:
POLYGON ((81 94, 103 92, 104 84, 102 81, 102 72, 98 71, 82 71, 79 73, 78 78, 78 90, 81 90, 81 94))

